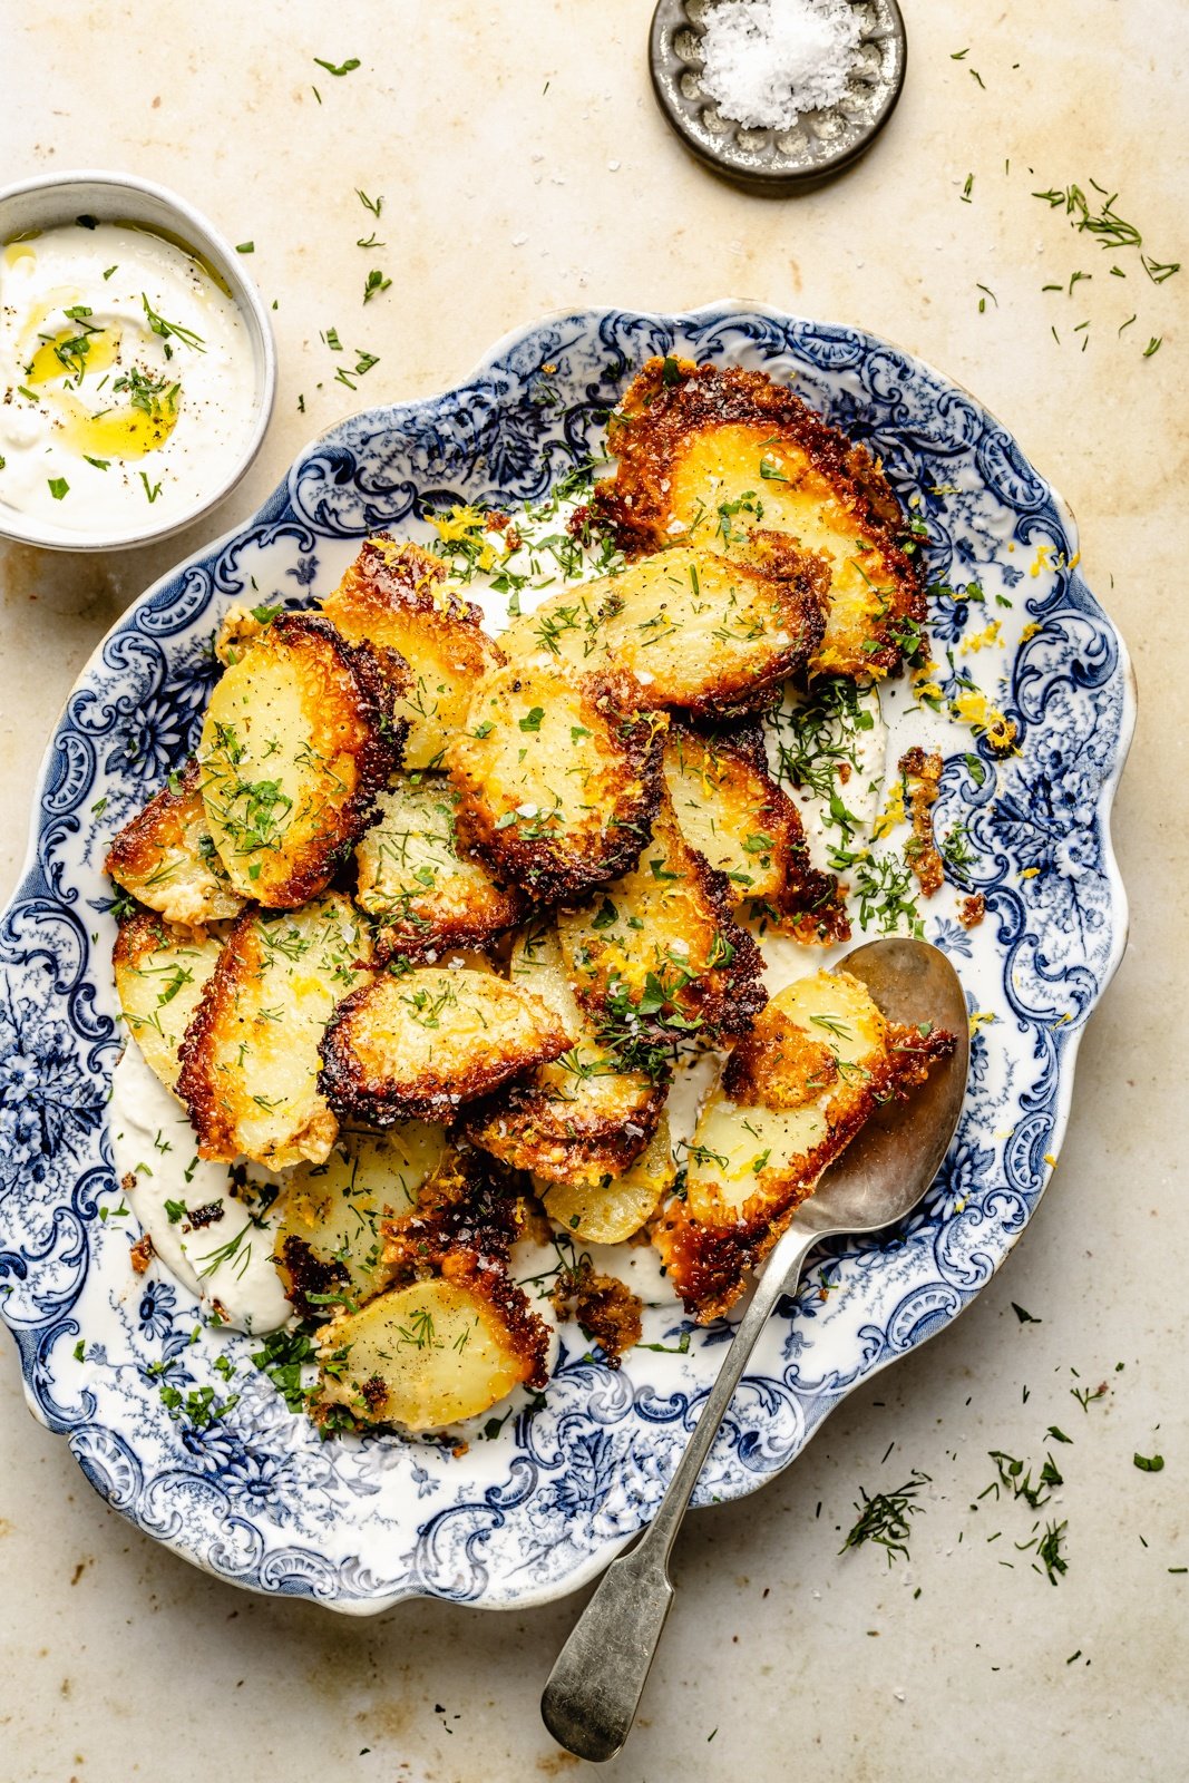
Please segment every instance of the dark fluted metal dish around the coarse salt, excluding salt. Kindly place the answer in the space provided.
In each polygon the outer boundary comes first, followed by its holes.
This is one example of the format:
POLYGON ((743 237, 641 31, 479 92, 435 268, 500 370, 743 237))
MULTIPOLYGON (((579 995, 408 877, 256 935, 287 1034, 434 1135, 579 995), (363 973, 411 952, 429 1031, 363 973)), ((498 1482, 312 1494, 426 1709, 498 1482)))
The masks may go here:
POLYGON ((702 36, 715 5, 731 0, 660 0, 649 61, 665 118, 713 173, 779 198, 834 178, 863 155, 891 118, 904 86, 907 32, 897 0, 854 0, 861 20, 847 91, 827 111, 804 112, 788 130, 750 130, 724 118, 701 84, 702 36))

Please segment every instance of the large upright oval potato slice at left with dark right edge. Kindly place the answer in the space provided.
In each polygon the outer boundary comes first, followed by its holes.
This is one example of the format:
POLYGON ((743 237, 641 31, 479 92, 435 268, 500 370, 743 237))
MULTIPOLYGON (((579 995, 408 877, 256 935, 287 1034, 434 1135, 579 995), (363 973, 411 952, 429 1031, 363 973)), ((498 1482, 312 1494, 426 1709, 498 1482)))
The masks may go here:
POLYGON ((248 640, 207 706, 198 763, 234 888, 269 909, 323 892, 399 765, 403 726, 367 645, 280 613, 248 640))

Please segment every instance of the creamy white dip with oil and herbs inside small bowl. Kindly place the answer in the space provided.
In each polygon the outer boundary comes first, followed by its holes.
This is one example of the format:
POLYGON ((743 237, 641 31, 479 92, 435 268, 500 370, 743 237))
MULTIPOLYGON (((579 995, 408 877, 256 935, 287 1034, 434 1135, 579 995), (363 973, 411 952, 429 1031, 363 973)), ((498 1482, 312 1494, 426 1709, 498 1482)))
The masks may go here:
POLYGON ((0 250, 0 508, 94 540, 168 524, 253 408, 244 317, 184 246, 84 218, 0 250))

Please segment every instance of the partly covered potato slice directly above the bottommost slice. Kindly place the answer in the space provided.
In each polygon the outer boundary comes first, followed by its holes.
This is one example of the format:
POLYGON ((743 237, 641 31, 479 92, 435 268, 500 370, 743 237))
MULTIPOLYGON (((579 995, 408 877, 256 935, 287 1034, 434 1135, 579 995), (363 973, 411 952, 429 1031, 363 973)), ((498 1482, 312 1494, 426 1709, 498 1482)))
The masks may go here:
POLYGON ((276 1268, 303 1318, 328 1302, 371 1300, 392 1280, 380 1223, 417 1205, 446 1152, 446 1129, 406 1122, 389 1132, 340 1132, 321 1164, 298 1164, 285 1182, 276 1268))

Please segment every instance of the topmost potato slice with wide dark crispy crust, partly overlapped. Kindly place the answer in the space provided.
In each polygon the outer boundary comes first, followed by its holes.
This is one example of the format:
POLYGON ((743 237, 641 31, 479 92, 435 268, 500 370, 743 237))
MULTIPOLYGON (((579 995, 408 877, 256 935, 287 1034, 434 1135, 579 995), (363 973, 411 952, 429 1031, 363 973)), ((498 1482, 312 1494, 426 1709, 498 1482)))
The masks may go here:
POLYGON ((652 358, 608 426, 595 508, 629 556, 674 537, 734 553, 763 528, 829 565, 820 674, 884 676, 913 654, 925 596, 879 464, 761 371, 652 358))

